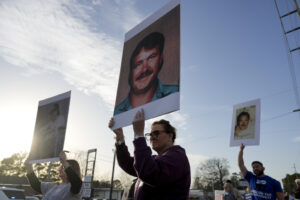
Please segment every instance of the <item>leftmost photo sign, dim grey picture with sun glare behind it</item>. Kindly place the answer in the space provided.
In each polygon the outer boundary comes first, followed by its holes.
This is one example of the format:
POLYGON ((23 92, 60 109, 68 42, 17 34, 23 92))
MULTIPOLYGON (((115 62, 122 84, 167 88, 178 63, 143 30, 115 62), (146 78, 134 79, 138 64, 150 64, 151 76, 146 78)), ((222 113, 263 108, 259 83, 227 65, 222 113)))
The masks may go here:
POLYGON ((39 102, 30 163, 58 161, 63 150, 71 91, 39 102))

